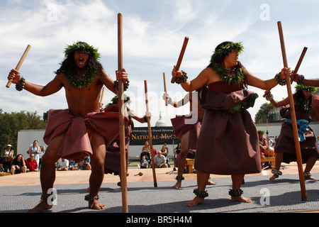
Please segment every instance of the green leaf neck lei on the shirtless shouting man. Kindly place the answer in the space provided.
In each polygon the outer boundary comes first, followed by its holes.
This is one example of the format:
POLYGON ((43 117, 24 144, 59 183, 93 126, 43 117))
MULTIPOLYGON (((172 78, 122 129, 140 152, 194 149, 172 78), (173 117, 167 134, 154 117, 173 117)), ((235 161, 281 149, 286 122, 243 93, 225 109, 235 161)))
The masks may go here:
POLYGON ((91 84, 94 82, 94 79, 96 78, 97 74, 101 72, 101 67, 96 67, 91 70, 86 70, 83 77, 77 77, 75 72, 64 72, 65 78, 67 79, 67 82, 71 84, 73 87, 82 89, 86 87, 86 89, 89 89, 91 84))

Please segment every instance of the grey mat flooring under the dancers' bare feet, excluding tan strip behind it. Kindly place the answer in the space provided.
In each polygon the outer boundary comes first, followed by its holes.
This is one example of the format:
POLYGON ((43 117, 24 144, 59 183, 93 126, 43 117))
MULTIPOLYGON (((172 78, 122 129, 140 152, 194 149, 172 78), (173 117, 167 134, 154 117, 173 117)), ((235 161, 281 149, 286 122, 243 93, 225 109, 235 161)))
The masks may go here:
MULTIPOLYGON (((319 179, 319 173, 313 174, 319 179)), ((186 180, 181 189, 171 189, 175 182, 128 183, 129 213, 184 214, 184 213, 279 213, 291 211, 319 210, 319 181, 306 181, 308 201, 301 201, 298 175, 283 175, 274 182, 269 176, 245 177, 242 185, 244 196, 252 199, 250 204, 230 201, 228 191, 230 177, 213 179, 216 186, 208 186, 205 204, 186 207, 194 198, 196 180, 186 180)), ((87 184, 55 185, 57 205, 47 213, 122 213, 121 189, 116 184, 103 184, 99 193, 100 201, 106 204, 103 211, 87 209, 84 196, 87 184)), ((40 186, 0 187, 0 213, 26 213, 40 199, 40 186)))

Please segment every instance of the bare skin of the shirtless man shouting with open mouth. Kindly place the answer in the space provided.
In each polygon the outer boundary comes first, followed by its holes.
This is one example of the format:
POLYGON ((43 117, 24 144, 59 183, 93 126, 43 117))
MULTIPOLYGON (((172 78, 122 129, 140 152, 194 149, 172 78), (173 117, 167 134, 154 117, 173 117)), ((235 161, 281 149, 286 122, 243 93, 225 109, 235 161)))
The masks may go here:
MULTIPOLYGON (((77 77, 83 77, 86 72, 86 65, 88 62, 89 55, 84 52, 74 52, 74 62, 76 67, 77 77)), ((13 79, 13 84, 19 84, 21 78, 20 72, 17 70, 11 70, 8 79, 13 79)), ((125 70, 121 72, 116 72, 116 79, 123 80, 125 82, 128 79, 128 74, 125 70)), ((94 79, 94 82, 90 85, 89 89, 77 87, 72 87, 67 82, 65 74, 57 74, 51 82, 47 85, 42 86, 38 84, 32 84, 26 81, 24 89, 37 96, 49 96, 59 92, 62 87, 65 88, 65 96, 67 99, 69 113, 74 116, 86 116, 86 114, 96 112, 99 113, 101 110, 99 108, 99 101, 101 96, 101 89, 105 85, 111 92, 117 94, 118 92, 113 87, 114 80, 110 75, 102 70, 94 79)), ((59 160, 60 157, 57 156, 57 150, 60 148, 60 144, 65 138, 65 134, 58 135, 54 138, 50 145, 48 145, 45 155, 43 155, 42 162, 43 165, 40 171, 40 180, 43 189, 43 196, 47 196, 48 189, 53 188, 53 183, 55 182, 55 162, 59 160)), ((99 133, 93 132, 91 147, 93 150, 93 155, 91 156, 91 177, 89 179, 90 183, 90 196, 94 197, 98 195, 101 183, 104 176, 104 159, 105 159, 105 140, 99 135, 99 133)), ((84 159, 84 157, 83 157, 84 159)), ((99 201, 94 200, 89 202, 89 207, 92 209, 106 209, 106 206, 101 204, 99 201)), ((38 213, 43 210, 52 209, 52 206, 47 204, 47 201, 41 201, 38 206, 31 209, 30 213, 38 213)))

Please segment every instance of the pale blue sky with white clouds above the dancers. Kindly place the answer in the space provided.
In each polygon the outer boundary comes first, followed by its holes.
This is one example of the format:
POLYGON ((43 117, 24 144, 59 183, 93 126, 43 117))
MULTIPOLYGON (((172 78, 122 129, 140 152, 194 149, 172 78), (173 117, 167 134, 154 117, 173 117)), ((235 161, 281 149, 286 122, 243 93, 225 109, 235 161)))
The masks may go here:
MULTIPOLYGON (((1 1, 0 108, 6 112, 38 111, 41 116, 49 109, 67 109, 63 89, 47 97, 17 92, 14 86, 6 89, 6 77, 28 44, 32 48, 20 71, 29 82, 50 82, 64 59, 65 46, 78 40, 99 48, 104 69, 115 79, 117 14, 122 13, 124 68, 130 77, 126 93, 133 99, 130 108, 139 116, 145 114, 143 82, 147 80, 152 126, 160 112, 170 124, 175 115, 189 114, 189 106, 174 109, 162 100, 163 73, 172 99, 186 94, 179 85, 170 83, 185 36, 190 40, 181 69, 189 79, 208 65, 216 45, 225 40, 242 42, 242 64, 257 77, 271 79, 283 67, 277 28, 277 21, 281 21, 289 66, 294 68, 303 47, 308 47, 299 72, 306 78, 317 78, 318 9, 318 1, 294 0, 1 1)), ((264 91, 249 89, 259 94, 250 109, 254 118, 266 100, 262 98, 264 91)), ((286 87, 277 86, 272 92, 277 100, 287 96, 286 87)), ((104 102, 112 97, 107 92, 104 102)))

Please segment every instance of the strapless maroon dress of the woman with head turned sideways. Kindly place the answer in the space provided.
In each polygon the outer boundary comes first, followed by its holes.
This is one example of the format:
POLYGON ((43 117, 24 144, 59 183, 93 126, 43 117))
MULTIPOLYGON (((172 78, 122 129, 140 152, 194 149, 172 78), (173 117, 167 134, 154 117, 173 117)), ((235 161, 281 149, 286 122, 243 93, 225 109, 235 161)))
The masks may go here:
POLYGON ((196 170, 216 175, 262 171, 257 128, 246 110, 254 99, 256 95, 244 89, 229 94, 203 92, 205 115, 196 148, 196 170))

